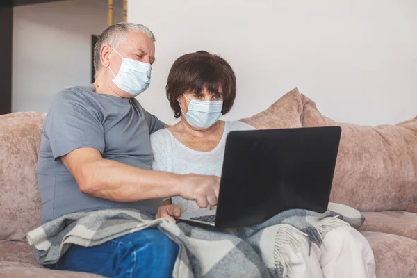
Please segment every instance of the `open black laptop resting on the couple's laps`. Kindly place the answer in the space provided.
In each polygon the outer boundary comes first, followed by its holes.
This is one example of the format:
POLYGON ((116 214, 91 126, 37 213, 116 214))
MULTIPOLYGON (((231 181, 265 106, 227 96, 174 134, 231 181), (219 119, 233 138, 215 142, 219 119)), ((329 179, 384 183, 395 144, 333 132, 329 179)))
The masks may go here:
POLYGON ((231 131, 217 208, 183 213, 177 222, 224 229, 292 208, 324 213, 340 138, 340 126, 231 131))

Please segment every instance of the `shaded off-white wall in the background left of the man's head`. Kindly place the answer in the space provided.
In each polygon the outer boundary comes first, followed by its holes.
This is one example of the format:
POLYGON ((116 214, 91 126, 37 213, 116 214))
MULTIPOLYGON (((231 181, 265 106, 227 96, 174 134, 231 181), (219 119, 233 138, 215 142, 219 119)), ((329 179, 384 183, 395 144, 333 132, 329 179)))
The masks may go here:
MULTIPOLYGON (((115 9, 115 22, 122 10, 115 9)), ((65 87, 91 83, 91 35, 107 26, 103 0, 72 0, 13 9, 13 112, 47 112, 65 87)))

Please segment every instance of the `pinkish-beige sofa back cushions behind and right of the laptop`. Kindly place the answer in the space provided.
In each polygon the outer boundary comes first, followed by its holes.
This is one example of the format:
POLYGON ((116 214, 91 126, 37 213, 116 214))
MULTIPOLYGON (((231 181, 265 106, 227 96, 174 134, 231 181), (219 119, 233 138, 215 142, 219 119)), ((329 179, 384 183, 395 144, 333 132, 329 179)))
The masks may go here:
POLYGON ((330 202, 359 211, 417 209, 417 117, 391 126, 341 124, 295 88, 242 121, 257 129, 341 126, 330 202))

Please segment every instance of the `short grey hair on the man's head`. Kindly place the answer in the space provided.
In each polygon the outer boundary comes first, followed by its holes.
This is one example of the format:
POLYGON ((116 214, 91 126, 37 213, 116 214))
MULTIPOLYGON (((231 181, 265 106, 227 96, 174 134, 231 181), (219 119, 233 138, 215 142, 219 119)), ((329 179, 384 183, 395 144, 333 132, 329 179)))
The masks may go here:
POLYGON ((103 44, 108 44, 113 47, 113 49, 117 49, 119 44, 121 44, 126 39, 126 35, 129 33, 129 31, 142 31, 148 35, 152 42, 155 41, 154 33, 152 33, 152 31, 150 31, 147 26, 142 24, 121 22, 108 26, 106 29, 104 29, 103 33, 101 33, 94 47, 93 60, 95 77, 101 69, 100 51, 103 44))

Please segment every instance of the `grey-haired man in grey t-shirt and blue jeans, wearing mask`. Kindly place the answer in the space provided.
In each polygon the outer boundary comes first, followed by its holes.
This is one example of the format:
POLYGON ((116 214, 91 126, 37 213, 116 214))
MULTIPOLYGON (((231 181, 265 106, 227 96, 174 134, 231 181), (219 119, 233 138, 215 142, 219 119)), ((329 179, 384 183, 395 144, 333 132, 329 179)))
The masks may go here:
MULTIPOLYGON (((156 213, 162 198, 177 195, 202 207, 216 204, 218 177, 151 170, 149 134, 164 124, 133 97, 149 86, 154 42, 140 24, 109 26, 95 46, 95 83, 58 92, 42 128, 42 224, 108 208, 156 213)), ((146 229, 95 247, 73 245, 49 267, 107 277, 170 277, 177 253, 165 234, 146 229)))

